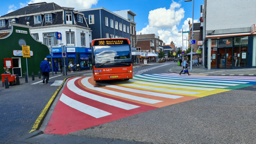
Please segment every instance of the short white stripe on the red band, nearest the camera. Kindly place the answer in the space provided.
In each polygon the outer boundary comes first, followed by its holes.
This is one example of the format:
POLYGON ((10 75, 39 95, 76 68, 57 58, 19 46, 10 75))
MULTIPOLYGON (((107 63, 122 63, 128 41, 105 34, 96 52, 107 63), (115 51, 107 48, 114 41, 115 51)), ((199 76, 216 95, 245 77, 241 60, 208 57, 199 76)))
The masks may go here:
POLYGON ((107 111, 104 111, 104 110, 95 108, 93 106, 84 104, 82 102, 79 102, 77 100, 74 100, 74 99, 66 96, 64 93, 61 94, 59 100, 62 101, 63 103, 65 103, 66 105, 68 105, 68 106, 70 106, 70 107, 72 107, 76 110, 79 110, 79 111, 81 111, 85 114, 93 116, 95 118, 100 118, 100 117, 112 114, 112 113, 109 113, 107 111))

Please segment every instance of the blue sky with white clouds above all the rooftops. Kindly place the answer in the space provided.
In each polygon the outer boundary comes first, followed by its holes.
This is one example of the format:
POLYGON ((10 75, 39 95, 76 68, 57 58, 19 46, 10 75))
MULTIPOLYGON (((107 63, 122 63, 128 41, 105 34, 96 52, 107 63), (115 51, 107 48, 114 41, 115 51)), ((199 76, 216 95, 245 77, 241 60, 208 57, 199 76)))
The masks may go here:
MULTIPOLYGON (((184 0, 2 0, 0 15, 26 6, 28 3, 54 2, 74 10, 104 7, 110 11, 130 9, 136 16, 136 34, 155 33, 165 44, 174 42, 182 46, 182 33, 188 30, 188 20, 192 22, 193 2, 184 0)), ((194 22, 199 22, 200 5, 203 0, 194 0, 194 22)), ((183 33, 183 47, 186 48, 187 33, 183 33)))

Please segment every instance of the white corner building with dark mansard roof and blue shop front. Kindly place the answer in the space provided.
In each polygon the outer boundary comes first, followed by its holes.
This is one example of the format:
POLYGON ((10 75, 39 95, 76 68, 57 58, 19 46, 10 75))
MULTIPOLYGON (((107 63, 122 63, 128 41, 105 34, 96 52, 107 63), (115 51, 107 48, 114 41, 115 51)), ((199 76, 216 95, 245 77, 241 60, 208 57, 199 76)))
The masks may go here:
POLYGON ((54 70, 61 70, 64 59, 61 46, 66 47, 65 64, 79 64, 81 69, 88 69, 88 55, 91 42, 91 30, 84 14, 72 7, 61 7, 53 2, 31 3, 27 6, 0 17, 0 32, 10 31, 10 22, 30 25, 34 39, 43 42, 50 51, 44 55, 54 70))

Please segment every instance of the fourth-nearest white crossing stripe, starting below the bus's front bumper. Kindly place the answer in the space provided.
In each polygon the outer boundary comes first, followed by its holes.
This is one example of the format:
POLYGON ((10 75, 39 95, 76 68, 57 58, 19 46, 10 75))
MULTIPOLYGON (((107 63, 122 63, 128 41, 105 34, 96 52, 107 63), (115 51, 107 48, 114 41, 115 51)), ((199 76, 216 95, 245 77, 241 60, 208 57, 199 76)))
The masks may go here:
MULTIPOLYGON (((153 95, 153 96, 158 96, 158 97, 165 97, 165 98, 172 98, 172 99, 183 97, 183 96, 178 96, 178 95, 173 95, 173 94, 164 94, 164 93, 157 93, 157 92, 151 92, 151 91, 144 91, 144 90, 127 88, 127 87, 121 87, 121 86, 117 86, 117 85, 111 85, 111 84, 108 84, 108 83, 100 83, 100 84, 103 84, 107 87, 111 87, 111 88, 115 88, 115 89, 121 89, 121 90, 124 90, 124 91, 132 91, 132 92, 135 92, 135 93, 153 95)), ((125 84, 125 83, 119 83, 119 84, 125 84)))

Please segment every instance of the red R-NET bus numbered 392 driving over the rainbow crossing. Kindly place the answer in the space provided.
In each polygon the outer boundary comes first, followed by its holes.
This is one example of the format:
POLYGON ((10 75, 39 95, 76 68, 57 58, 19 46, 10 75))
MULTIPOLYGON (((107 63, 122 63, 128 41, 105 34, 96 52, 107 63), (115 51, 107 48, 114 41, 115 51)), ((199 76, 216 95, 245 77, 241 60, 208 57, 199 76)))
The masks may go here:
POLYGON ((132 78, 130 41, 127 38, 100 38, 91 42, 93 80, 132 78))

